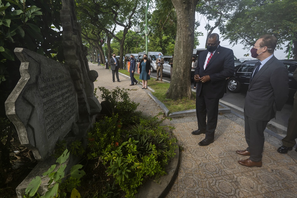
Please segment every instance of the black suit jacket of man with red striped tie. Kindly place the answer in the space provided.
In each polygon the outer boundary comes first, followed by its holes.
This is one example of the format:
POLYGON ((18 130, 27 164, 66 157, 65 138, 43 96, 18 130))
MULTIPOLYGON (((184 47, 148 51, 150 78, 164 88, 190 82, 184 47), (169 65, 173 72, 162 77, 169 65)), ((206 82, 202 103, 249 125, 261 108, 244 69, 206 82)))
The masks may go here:
POLYGON ((226 47, 219 47, 211 57, 205 70, 203 68, 208 51, 199 53, 195 75, 200 77, 209 75, 210 81, 196 84, 196 95, 199 96, 202 86, 207 98, 222 98, 226 90, 226 78, 234 75, 233 51, 226 47))

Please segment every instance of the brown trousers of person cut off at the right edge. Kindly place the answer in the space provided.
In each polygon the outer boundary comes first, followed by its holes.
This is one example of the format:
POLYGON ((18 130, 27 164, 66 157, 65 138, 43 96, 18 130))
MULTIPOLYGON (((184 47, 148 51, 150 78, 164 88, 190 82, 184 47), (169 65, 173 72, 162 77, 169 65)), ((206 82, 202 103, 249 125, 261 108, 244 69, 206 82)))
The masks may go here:
POLYGON ((286 147, 293 147, 297 138, 297 100, 294 99, 293 111, 288 121, 287 135, 282 139, 282 144, 286 147))

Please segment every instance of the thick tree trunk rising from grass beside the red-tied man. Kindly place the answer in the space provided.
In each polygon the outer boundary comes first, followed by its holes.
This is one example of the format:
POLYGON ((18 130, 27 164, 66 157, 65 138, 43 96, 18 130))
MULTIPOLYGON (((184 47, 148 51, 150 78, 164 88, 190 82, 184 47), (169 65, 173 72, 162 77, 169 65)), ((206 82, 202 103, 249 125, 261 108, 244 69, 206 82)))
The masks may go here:
POLYGON ((167 98, 192 99, 191 61, 194 47, 195 9, 198 0, 171 0, 176 10, 177 31, 174 47, 173 74, 167 98))

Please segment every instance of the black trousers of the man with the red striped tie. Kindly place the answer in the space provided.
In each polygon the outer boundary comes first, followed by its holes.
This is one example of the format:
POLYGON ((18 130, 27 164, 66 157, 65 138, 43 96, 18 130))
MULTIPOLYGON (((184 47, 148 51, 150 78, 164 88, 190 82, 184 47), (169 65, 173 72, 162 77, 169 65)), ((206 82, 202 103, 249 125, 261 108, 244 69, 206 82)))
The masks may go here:
POLYGON ((196 96, 196 116, 198 129, 205 130, 205 138, 214 140, 214 131, 217 128, 219 113, 219 98, 207 98, 203 95, 203 88, 200 95, 196 96), (207 115, 207 123, 206 123, 207 115))

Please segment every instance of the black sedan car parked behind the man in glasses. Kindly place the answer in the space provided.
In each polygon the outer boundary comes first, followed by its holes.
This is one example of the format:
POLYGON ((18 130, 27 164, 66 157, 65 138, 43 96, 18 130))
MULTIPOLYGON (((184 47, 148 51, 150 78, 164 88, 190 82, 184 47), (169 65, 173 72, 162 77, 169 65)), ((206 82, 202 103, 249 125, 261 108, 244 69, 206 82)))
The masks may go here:
MULTIPOLYGON (((280 60, 287 67, 289 72, 289 99, 293 99, 297 90, 297 82, 293 78, 293 72, 297 68, 297 60, 280 60)), ((245 61, 244 63, 235 66, 234 76, 227 80, 227 89, 232 93, 240 91, 242 86, 249 85, 249 78, 258 61, 245 61)))

